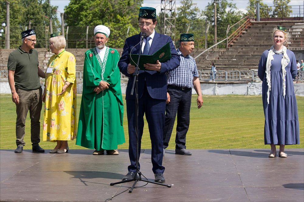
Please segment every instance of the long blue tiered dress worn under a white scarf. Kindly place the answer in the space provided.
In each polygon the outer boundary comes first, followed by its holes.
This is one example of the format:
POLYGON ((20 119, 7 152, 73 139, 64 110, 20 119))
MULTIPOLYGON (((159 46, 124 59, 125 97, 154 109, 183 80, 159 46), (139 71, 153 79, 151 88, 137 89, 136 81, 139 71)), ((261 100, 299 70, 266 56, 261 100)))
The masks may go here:
POLYGON ((283 80, 281 60, 283 54, 273 55, 271 61, 270 80, 271 90, 269 92, 269 104, 267 103, 268 84, 266 79, 266 62, 270 49, 263 52, 258 76, 262 83, 262 100, 265 115, 264 141, 265 144, 300 144, 299 118, 293 78, 297 75, 297 64, 292 51, 286 53, 290 59, 286 66, 286 94, 283 96, 283 80))

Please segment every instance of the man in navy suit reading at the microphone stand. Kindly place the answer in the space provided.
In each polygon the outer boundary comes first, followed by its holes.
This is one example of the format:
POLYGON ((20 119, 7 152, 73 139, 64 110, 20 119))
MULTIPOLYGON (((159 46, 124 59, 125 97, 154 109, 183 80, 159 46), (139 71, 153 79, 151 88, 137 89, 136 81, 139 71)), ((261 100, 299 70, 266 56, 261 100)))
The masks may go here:
MULTIPOLYGON (((123 54, 118 62, 120 71, 129 77, 126 88, 126 106, 129 130, 129 157, 131 165, 128 166, 128 174, 123 180, 133 179, 136 172, 136 114, 135 114, 135 91, 130 95, 133 86, 133 73, 135 66, 130 64, 129 54, 152 55, 166 43, 170 43, 171 59, 166 62, 156 61, 155 64, 144 64, 145 70, 140 70, 138 75, 138 138, 139 150, 143 135, 143 115, 146 114, 151 145, 152 145, 152 171, 155 181, 163 183, 163 128, 167 99, 167 76, 166 72, 180 65, 180 57, 174 48, 171 37, 157 33, 154 28, 157 24, 156 9, 141 7, 138 15, 140 34, 126 39, 123 54), (140 50, 141 35, 146 33, 143 39, 143 47, 140 50)), ((140 164, 138 164, 140 169, 140 164)))

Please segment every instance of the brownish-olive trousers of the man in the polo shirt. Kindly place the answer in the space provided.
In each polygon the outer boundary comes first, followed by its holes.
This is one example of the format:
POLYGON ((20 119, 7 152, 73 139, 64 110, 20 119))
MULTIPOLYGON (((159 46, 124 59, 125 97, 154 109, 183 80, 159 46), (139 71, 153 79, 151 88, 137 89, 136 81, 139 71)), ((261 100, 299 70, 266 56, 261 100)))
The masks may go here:
POLYGON ((31 118, 31 142, 35 146, 40 142, 40 113, 42 108, 42 88, 37 90, 24 90, 16 88, 19 95, 19 104, 16 104, 16 144, 24 146, 25 121, 27 112, 31 118))

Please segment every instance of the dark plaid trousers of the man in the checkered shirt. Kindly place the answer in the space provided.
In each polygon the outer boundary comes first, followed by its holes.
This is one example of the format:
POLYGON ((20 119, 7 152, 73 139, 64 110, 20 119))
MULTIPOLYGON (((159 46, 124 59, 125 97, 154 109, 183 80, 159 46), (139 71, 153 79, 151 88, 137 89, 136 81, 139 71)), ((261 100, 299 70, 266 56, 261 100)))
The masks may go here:
POLYGON ((175 137, 175 148, 186 148, 186 134, 190 124, 190 107, 192 89, 181 90, 168 86, 170 102, 166 105, 165 126, 164 126, 164 148, 168 147, 172 134, 175 117, 177 114, 177 126, 175 137))

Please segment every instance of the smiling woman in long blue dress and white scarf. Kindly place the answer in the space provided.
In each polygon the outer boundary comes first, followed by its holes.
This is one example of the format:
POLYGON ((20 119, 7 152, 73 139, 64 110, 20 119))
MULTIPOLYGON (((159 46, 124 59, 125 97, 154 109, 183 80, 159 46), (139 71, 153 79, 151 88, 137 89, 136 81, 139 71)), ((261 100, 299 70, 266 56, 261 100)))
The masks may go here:
POLYGON ((270 144, 268 157, 287 157, 285 145, 300 144, 299 118, 293 78, 297 75, 295 55, 287 50, 287 29, 278 26, 272 31, 274 45, 263 52, 258 76, 262 83, 262 100, 265 115, 264 141, 270 144))

